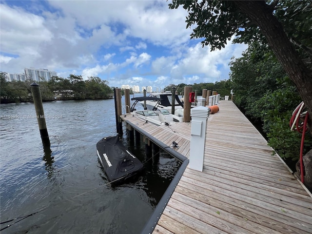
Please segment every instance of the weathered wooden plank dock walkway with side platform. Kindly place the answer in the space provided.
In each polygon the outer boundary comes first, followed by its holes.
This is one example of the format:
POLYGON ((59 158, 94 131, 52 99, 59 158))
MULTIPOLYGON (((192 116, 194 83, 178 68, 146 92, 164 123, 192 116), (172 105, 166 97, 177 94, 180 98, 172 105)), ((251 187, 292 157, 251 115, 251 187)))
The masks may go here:
MULTIPOLYGON (((219 109, 208 118, 203 172, 186 168, 153 234, 311 234, 311 193, 232 101, 219 109)), ((189 157, 191 123, 122 118, 189 157)))

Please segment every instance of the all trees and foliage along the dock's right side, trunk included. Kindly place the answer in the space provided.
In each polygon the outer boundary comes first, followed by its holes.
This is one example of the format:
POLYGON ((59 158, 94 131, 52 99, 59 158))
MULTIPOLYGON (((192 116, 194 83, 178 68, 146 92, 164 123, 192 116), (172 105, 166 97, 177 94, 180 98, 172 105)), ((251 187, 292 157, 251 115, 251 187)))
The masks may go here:
POLYGON ((235 43, 249 45, 243 58, 231 62, 235 102, 262 121, 278 154, 293 160, 299 156, 300 136, 290 131, 289 119, 304 101, 310 113, 304 180, 312 189, 312 2, 173 0, 169 8, 180 5, 188 12, 191 39, 201 38, 203 47, 224 48, 233 36, 235 43))

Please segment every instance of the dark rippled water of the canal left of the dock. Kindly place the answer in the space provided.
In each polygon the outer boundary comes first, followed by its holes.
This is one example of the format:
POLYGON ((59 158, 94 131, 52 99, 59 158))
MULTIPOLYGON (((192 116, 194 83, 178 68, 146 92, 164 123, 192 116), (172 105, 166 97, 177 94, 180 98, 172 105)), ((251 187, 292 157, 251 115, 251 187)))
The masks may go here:
POLYGON ((144 144, 129 144, 124 128, 123 142, 144 172, 107 184, 96 143, 116 135, 114 105, 113 99, 43 103, 51 141, 43 149, 33 103, 1 104, 0 220, 39 211, 1 234, 140 233, 180 163, 163 152, 159 161, 148 160, 144 144))

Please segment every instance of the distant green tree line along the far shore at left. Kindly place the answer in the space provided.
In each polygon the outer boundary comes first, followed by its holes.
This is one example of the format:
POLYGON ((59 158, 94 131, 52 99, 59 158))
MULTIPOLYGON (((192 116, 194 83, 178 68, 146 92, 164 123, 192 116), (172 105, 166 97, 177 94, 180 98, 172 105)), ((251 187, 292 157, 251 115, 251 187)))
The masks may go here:
MULTIPOLYGON (((7 74, 0 72, 1 103, 31 102, 30 84, 33 81, 6 80, 7 74)), ((52 77, 48 81, 38 81, 43 101, 71 99, 107 99, 114 93, 107 80, 98 77, 88 77, 84 80, 81 76, 69 75, 68 78, 52 77)))

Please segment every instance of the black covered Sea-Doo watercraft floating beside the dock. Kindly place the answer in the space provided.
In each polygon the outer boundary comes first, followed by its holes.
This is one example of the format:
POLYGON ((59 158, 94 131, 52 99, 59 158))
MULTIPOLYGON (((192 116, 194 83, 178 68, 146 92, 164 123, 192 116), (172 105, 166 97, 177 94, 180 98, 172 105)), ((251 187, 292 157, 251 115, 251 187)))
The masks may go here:
POLYGON ((97 151, 109 181, 124 180, 143 170, 141 161, 127 150, 118 136, 98 141, 97 151))

